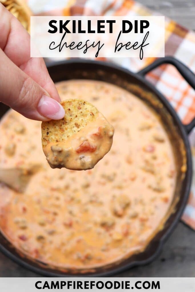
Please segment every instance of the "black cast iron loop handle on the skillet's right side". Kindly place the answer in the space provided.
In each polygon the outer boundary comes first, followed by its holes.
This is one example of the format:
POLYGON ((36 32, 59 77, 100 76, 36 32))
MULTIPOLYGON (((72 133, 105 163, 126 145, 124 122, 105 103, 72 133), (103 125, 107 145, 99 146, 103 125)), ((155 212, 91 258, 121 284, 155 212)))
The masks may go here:
MULTIPOLYGON (((195 74, 186 65, 182 64, 182 62, 171 56, 166 56, 165 58, 159 58, 155 60, 152 64, 137 72, 137 74, 145 76, 151 70, 163 64, 171 64, 175 66, 187 81, 187 83, 195 90, 195 74)), ((190 133, 191 130, 195 127, 195 118, 189 124, 184 125, 184 127, 187 133, 190 133)))

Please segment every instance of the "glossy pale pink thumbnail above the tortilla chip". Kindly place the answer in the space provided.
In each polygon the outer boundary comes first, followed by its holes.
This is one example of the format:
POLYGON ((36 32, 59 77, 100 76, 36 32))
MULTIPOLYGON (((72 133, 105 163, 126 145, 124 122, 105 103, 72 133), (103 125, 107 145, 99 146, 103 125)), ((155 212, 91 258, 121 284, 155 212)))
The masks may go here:
POLYGON ((39 100, 37 111, 51 120, 59 120, 65 116, 65 111, 61 104, 47 95, 43 95, 39 100))

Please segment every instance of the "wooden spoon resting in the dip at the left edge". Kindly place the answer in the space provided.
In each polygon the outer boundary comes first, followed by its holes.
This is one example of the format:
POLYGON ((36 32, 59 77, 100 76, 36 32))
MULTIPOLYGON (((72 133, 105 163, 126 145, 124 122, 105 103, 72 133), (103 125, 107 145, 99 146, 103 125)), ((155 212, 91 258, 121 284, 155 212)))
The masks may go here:
POLYGON ((23 193, 32 177, 41 168, 39 164, 33 164, 23 168, 0 168, 0 182, 5 183, 11 189, 23 193))

